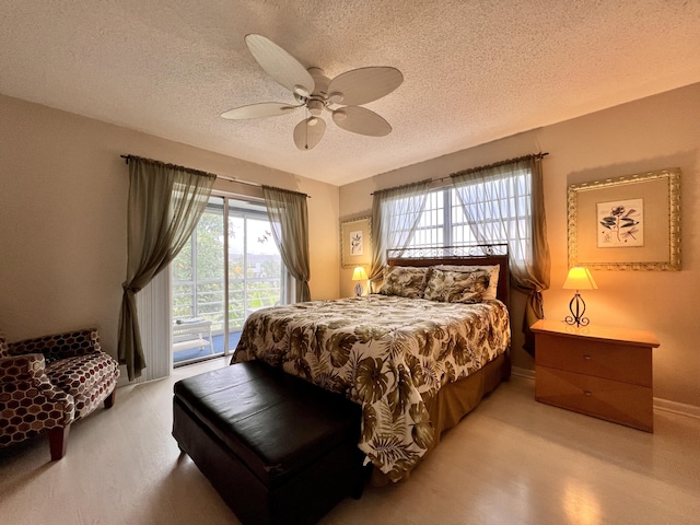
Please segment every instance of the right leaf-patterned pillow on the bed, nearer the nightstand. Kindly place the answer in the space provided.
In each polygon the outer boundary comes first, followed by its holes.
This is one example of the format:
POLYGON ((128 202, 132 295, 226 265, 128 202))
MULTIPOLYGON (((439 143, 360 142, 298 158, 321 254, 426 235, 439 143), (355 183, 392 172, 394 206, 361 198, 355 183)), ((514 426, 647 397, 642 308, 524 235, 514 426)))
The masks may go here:
POLYGON ((486 270, 450 271, 433 268, 423 299, 442 303, 479 303, 489 288, 486 270))

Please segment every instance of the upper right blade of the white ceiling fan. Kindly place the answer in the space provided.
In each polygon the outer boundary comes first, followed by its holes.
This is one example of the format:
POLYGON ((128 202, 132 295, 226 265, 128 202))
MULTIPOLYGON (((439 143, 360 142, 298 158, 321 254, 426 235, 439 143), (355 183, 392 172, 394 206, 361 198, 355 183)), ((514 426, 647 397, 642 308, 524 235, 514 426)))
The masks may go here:
POLYGON ((339 74, 328 85, 328 96, 341 93, 341 104, 359 106, 388 95, 404 82, 396 68, 360 68, 339 74))

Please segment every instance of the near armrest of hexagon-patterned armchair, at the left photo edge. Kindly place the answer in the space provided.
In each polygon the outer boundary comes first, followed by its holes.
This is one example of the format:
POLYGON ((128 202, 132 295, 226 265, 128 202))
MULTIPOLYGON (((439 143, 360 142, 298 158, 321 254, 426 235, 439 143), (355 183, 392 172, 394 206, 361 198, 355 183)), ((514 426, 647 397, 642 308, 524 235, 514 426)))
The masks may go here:
POLYGON ((44 373, 44 364, 40 353, 0 358, 0 420, 5 410, 16 410, 20 402, 26 407, 26 399, 31 399, 32 406, 40 407, 39 412, 54 415, 58 410, 61 417, 54 416, 52 419, 62 425, 73 422, 73 396, 54 386, 44 373))

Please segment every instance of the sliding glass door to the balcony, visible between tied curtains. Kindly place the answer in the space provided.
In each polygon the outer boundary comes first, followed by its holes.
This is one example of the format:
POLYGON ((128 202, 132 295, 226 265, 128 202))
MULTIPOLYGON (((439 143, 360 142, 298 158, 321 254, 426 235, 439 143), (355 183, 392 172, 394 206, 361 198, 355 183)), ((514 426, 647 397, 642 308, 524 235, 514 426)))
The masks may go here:
POLYGON ((252 312, 287 302, 262 203, 212 197, 172 268, 175 365, 231 353, 252 312))

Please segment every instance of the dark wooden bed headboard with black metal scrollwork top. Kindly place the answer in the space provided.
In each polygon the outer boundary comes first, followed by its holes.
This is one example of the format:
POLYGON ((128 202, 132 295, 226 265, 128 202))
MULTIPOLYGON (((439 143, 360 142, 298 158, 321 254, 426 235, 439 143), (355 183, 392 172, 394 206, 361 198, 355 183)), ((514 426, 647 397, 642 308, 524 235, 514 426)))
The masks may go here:
POLYGON ((508 244, 387 249, 386 264, 387 266, 499 265, 501 269, 497 296, 510 305, 511 275, 508 266, 508 244))

